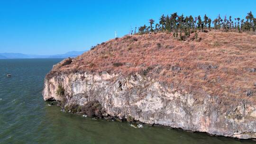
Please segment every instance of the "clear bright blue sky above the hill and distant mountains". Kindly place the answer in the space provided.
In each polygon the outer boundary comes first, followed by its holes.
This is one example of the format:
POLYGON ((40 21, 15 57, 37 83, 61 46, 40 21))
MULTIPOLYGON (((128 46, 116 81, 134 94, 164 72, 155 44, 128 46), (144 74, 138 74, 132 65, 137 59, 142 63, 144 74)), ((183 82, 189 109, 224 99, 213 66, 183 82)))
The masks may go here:
POLYGON ((256 0, 0 0, 0 53, 62 54, 128 34, 162 14, 256 16, 256 0))

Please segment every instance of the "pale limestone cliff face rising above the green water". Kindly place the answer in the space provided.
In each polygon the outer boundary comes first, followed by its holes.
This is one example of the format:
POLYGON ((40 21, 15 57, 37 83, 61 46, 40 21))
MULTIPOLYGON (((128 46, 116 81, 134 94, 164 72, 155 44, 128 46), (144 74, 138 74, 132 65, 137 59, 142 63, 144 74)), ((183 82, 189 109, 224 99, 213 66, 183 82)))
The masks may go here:
POLYGON ((139 74, 60 74, 45 80, 42 93, 45 100, 62 101, 65 107, 98 101, 112 117, 133 117, 150 125, 256 138, 256 105, 244 99, 182 94, 139 74), (57 95, 59 85, 64 88, 63 96, 57 95))

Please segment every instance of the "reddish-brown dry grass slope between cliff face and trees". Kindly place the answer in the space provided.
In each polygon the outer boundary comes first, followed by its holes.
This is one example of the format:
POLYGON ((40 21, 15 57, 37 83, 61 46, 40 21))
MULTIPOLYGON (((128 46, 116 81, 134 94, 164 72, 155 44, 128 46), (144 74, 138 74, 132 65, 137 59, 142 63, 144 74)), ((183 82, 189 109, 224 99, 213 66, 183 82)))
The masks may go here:
POLYGON ((124 36, 97 45, 58 72, 102 72, 128 75, 139 72, 176 90, 244 98, 256 97, 256 36, 210 31, 200 42, 178 41, 172 34, 124 36), (115 64, 114 64, 115 63, 115 64), (118 64, 117 64, 118 63, 118 64), (247 97, 247 91, 254 91, 247 97))

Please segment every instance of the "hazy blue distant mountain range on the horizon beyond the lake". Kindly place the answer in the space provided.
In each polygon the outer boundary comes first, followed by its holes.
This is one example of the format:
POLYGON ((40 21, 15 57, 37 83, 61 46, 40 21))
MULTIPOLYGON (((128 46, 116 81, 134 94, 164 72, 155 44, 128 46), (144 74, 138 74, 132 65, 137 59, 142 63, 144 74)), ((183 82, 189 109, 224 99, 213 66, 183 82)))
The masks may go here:
POLYGON ((0 59, 26 59, 26 58, 67 58, 76 57, 83 54, 85 51, 72 51, 65 54, 54 55, 36 55, 36 54, 21 54, 21 53, 0 53, 0 59))

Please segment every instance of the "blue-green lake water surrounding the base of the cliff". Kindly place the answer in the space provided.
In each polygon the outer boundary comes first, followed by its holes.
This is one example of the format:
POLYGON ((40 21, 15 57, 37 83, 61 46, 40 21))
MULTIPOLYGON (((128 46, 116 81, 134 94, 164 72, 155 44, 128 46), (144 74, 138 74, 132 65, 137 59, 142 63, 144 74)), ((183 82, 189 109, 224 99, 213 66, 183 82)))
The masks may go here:
POLYGON ((61 59, 0 60, 0 144, 253 144, 157 126, 64 113, 42 98, 44 77, 61 59), (7 78, 7 73, 12 77, 7 78))

